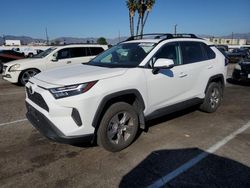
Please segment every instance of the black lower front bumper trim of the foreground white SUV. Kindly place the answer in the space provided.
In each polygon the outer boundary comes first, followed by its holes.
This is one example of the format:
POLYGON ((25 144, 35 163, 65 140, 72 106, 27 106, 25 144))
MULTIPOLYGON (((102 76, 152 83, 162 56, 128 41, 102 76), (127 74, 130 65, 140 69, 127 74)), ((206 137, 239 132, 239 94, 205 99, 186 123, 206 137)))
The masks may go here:
POLYGON ((82 136, 65 136, 48 118, 26 102, 27 119, 39 130, 41 134, 50 140, 60 143, 84 143, 94 141, 94 134, 82 136))

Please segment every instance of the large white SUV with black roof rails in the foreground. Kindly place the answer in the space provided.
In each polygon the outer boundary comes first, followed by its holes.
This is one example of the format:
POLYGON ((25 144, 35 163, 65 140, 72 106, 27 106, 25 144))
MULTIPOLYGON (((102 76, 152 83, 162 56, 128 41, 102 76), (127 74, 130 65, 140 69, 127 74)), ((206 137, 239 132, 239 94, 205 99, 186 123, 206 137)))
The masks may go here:
POLYGON ((193 34, 132 37, 88 64, 31 78, 26 115, 52 140, 97 141, 120 151, 146 128, 146 120, 197 104, 214 112, 226 65, 216 47, 193 34))

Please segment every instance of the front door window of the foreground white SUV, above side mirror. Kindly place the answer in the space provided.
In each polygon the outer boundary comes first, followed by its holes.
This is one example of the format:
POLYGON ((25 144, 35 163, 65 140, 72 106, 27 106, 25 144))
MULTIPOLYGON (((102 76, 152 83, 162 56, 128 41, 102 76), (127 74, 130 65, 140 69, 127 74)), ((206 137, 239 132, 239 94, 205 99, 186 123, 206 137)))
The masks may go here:
POLYGON ((166 58, 166 59, 172 59, 174 61, 174 64, 180 64, 179 58, 178 58, 178 44, 172 43, 167 44, 163 46, 159 51, 156 53, 155 58, 166 58))

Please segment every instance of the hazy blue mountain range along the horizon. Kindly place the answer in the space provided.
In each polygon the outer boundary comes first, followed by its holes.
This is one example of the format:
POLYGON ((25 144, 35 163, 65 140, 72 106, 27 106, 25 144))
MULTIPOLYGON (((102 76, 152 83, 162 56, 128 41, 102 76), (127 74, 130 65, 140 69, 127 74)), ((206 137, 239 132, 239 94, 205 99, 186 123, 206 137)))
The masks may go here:
MULTIPOLYGON (((231 35, 227 36, 213 36, 213 35, 198 35, 201 38, 211 38, 211 37, 216 37, 216 38, 227 38, 231 39, 231 35)), ((128 37, 117 37, 117 38, 107 38, 108 44, 115 45, 121 41, 126 40, 128 37)), ((234 33, 233 38, 235 39, 247 39, 248 42, 250 42, 250 33, 234 33)), ((27 45, 29 43, 45 43, 46 40, 44 39, 36 39, 28 36, 12 36, 12 35, 5 35, 4 36, 5 40, 21 40, 21 43, 23 45, 27 45)), ((3 37, 0 37, 0 45, 4 44, 4 39, 3 37)), ((96 43, 98 38, 93 38, 93 37, 87 37, 87 38, 76 38, 76 37, 59 37, 53 40, 50 40, 50 42, 53 43, 58 43, 58 44, 77 44, 77 43, 96 43)))

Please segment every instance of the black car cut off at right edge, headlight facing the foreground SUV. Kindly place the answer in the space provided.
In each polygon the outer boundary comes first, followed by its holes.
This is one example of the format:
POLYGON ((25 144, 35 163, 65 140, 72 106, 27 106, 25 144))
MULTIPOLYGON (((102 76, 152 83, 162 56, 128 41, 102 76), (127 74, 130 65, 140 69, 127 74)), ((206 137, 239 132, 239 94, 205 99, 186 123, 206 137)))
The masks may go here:
POLYGON ((235 65, 232 79, 250 82, 250 58, 243 59, 235 65))

